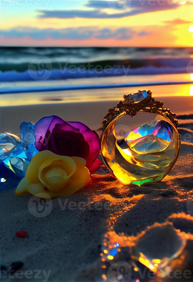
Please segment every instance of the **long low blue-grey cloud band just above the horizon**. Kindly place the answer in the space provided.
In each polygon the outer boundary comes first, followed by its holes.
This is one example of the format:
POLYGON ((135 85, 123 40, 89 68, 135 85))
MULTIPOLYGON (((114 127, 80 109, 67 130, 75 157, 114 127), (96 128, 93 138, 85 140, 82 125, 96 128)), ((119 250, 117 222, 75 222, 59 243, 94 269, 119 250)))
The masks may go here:
POLYGON ((29 27, 16 27, 10 30, 0 30, 0 36, 3 37, 31 37, 32 39, 45 40, 52 39, 116 39, 116 40, 129 40, 135 35, 146 35, 144 32, 137 33, 131 28, 101 28, 96 27, 79 27, 79 28, 65 28, 65 29, 38 29, 29 27))

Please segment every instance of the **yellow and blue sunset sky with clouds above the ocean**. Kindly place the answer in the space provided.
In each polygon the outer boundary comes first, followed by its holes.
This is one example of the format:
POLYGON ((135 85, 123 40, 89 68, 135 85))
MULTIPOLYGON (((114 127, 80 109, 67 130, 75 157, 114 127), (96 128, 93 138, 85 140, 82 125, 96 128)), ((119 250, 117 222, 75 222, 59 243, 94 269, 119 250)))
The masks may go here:
POLYGON ((193 46, 193 0, 0 0, 0 45, 193 46))

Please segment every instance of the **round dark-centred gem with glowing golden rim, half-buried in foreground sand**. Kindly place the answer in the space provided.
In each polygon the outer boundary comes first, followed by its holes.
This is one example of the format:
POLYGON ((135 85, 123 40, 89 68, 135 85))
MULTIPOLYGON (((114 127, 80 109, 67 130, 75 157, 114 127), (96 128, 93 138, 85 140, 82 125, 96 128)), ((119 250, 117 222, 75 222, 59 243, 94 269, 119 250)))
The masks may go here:
POLYGON ((142 236, 138 237, 132 249, 133 257, 153 272, 165 273, 166 277, 174 266, 174 259, 181 256, 186 246, 185 236, 180 236, 178 231, 169 222, 149 226, 142 236))

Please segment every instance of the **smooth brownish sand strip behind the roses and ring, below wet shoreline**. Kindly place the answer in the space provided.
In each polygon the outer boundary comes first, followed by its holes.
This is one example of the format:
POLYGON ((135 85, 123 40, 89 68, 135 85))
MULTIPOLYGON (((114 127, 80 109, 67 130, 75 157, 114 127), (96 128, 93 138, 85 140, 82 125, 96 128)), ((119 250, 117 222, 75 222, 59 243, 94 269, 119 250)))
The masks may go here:
MULTIPOLYGON (((109 92, 110 91, 111 89, 109 89, 109 92)), ((0 106, 0 129, 1 132, 7 131, 17 135, 19 133, 19 125, 22 121, 31 121, 36 123, 44 116, 58 115, 64 120, 81 121, 88 125, 91 129, 97 130, 102 127, 103 118, 108 112, 109 108, 116 106, 117 103, 123 99, 122 95, 129 93, 127 89, 121 89, 121 92, 121 94, 117 95, 117 100, 78 102, 74 98, 75 102, 68 103, 60 102, 54 104, 52 101, 52 104, 41 103, 30 105, 27 104, 22 106, 0 106)), ((66 97, 70 96, 70 93, 70 91, 66 91, 60 95, 66 97)), ((104 94, 105 93, 106 90, 104 91, 104 94)), ((97 91, 96 96, 98 95, 102 94, 97 91)), ((39 94, 39 96, 41 97, 41 94, 39 94)), ((176 113, 176 115, 189 115, 189 113, 192 112, 193 99, 191 96, 175 96, 174 98, 173 96, 166 97, 163 95, 156 96, 155 99, 162 101, 165 106, 170 108, 174 113, 176 113)), ((11 100, 9 103, 11 104, 11 100)))

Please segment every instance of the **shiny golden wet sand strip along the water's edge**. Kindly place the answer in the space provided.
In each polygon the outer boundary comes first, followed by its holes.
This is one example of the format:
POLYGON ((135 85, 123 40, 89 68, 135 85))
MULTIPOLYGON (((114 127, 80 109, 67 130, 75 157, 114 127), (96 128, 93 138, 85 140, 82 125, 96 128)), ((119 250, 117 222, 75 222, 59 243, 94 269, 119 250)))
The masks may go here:
MULTIPOLYGON (((148 77, 138 77, 138 82, 147 83, 148 77)), ((114 82, 109 79, 109 83, 120 83, 120 78, 117 80, 113 78, 114 82)), ((131 78, 130 78, 131 79, 131 78)), ((141 89, 150 89, 153 92, 153 97, 178 97, 189 96, 189 89, 191 80, 193 77, 191 73, 171 75, 168 78, 167 75, 159 75, 154 77, 153 82, 156 81, 185 81, 190 84, 178 84, 178 85, 153 85, 153 86, 140 86, 141 89)), ((135 82, 135 81, 134 81, 135 82)), ((102 81, 102 83, 105 83, 102 81)), ((128 77, 122 79, 122 83, 128 83, 128 77)), ((104 101, 116 101, 121 100, 122 96, 133 92, 133 88, 138 90, 138 87, 120 87, 120 88, 107 88, 107 89, 85 89, 85 90, 66 90, 56 92, 36 92, 36 93, 18 93, 18 94, 1 94, 1 107, 4 106, 23 106, 30 105, 35 106, 38 104, 66 104, 66 103, 81 103, 81 102, 104 102, 104 101)), ((0 85, 0 90, 1 90, 0 85)))

